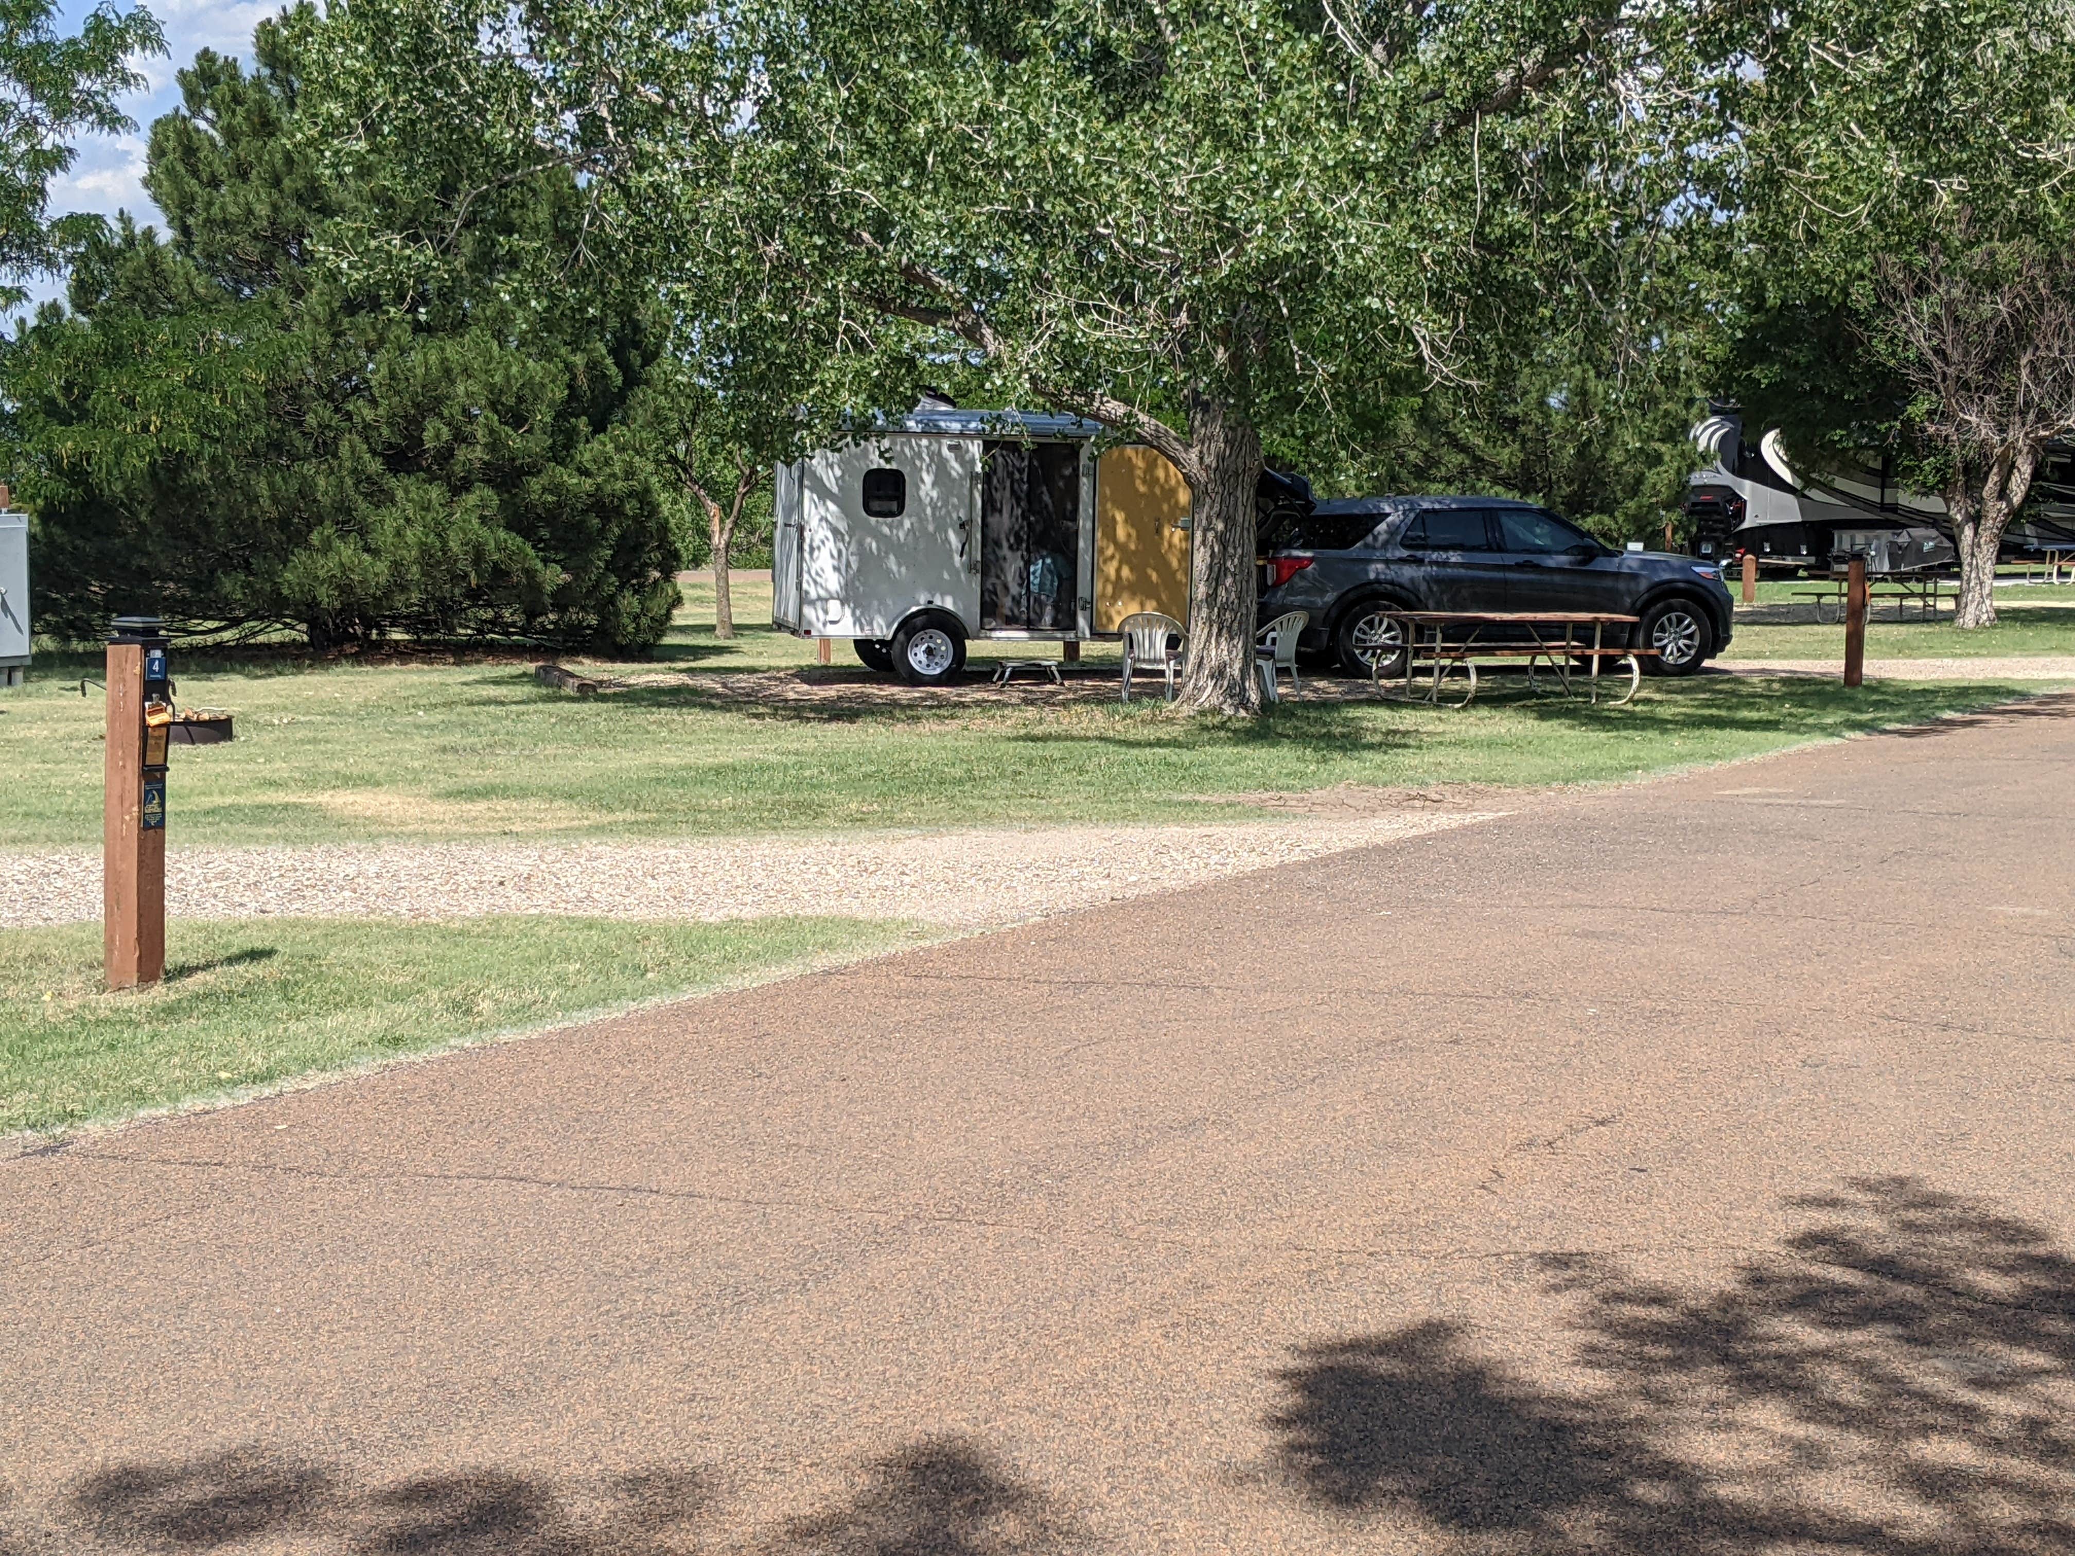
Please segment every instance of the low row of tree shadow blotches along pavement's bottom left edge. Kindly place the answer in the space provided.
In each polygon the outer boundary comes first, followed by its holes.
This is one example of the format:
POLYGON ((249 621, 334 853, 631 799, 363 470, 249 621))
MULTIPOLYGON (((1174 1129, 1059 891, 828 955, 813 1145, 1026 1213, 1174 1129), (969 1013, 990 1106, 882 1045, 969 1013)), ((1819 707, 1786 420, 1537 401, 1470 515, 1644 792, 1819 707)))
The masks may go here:
MULTIPOLYGON (((703 1550, 699 1471, 606 1479, 502 1469, 359 1481, 264 1448, 114 1465, 73 1488, 37 1537, 0 1552, 309 1550, 330 1556, 679 1556, 703 1550)), ((0 1521, 4 1523, 4 1521, 0 1521)), ((1048 1498, 963 1438, 930 1438, 857 1473, 830 1508, 749 1546, 768 1556, 1054 1556, 1073 1541, 1048 1498)))

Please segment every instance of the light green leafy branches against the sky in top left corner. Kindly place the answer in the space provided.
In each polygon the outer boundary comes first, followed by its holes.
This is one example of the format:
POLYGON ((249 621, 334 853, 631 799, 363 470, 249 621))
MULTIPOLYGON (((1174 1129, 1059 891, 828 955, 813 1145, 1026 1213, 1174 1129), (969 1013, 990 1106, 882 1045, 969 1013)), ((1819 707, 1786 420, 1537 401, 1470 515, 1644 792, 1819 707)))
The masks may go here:
POLYGON ((21 282, 56 270, 100 224, 52 220, 50 180, 73 166, 73 137, 137 129, 116 110, 116 98, 145 85, 129 60, 166 52, 143 8, 98 4, 77 37, 56 19, 58 0, 0 0, 0 307, 21 303, 21 282))

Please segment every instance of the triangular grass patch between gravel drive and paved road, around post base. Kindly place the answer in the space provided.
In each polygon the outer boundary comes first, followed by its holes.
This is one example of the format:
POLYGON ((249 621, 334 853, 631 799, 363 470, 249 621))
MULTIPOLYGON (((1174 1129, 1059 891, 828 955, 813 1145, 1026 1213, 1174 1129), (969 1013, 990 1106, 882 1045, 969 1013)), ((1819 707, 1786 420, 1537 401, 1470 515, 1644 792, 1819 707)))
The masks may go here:
POLYGON ((108 994, 98 923, 0 932, 0 1137, 266 1087, 913 944, 855 919, 174 921, 108 994))

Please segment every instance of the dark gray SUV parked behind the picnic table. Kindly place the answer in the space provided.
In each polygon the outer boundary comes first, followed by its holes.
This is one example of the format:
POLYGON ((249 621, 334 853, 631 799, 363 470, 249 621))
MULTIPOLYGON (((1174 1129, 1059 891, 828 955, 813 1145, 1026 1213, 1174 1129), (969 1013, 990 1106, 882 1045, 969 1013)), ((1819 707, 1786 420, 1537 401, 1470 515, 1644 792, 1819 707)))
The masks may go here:
MULTIPOLYGON (((1652 674, 1693 674, 1728 645, 1722 571, 1691 556, 1614 552, 1511 498, 1282 502, 1262 523, 1262 620, 1311 614, 1301 647, 1347 674, 1403 668, 1384 610, 1589 610, 1639 616, 1652 674)), ((1494 633, 1486 631, 1490 639, 1494 633)), ((1627 647, 1614 643, 1612 647, 1627 647)))

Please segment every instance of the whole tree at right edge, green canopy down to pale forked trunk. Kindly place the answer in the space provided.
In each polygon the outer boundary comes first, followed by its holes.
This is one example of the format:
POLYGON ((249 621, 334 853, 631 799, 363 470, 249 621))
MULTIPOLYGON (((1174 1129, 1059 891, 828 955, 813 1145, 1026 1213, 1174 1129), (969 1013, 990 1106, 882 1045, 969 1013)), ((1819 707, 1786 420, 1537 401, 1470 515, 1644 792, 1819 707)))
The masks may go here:
POLYGON ((1741 60, 1712 191, 1739 239, 1735 388, 1803 450, 1876 444, 1940 492, 1959 624, 1986 627, 2058 394, 2075 8, 1785 0, 1726 12, 1716 44, 1741 60))

